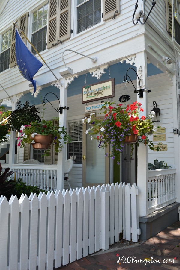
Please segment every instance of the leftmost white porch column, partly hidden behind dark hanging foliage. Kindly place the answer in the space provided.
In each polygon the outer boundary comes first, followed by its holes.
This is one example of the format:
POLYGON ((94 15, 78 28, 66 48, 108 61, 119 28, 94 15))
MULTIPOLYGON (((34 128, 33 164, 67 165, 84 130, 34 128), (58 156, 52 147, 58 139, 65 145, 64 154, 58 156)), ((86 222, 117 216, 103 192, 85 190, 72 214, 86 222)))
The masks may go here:
MULTIPOLYGON (((12 111, 14 111, 14 110, 16 110, 16 102, 17 102, 16 95, 13 95, 12 99, 13 99, 12 111)), ((10 139, 9 139, 9 167, 10 167, 10 170, 12 169, 12 164, 14 164, 15 141, 16 141, 16 130, 11 130, 10 131, 10 139)))

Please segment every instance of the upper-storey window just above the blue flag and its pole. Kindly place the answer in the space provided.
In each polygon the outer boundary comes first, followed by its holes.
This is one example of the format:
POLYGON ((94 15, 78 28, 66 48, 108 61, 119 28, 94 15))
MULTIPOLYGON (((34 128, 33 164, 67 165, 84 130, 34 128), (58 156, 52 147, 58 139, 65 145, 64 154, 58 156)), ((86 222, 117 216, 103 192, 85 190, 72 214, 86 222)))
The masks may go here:
MULTIPOLYGON (((38 52, 46 49, 47 9, 48 4, 45 4, 33 13, 32 44, 38 52)), ((31 50, 36 54, 36 51, 33 48, 31 50)))

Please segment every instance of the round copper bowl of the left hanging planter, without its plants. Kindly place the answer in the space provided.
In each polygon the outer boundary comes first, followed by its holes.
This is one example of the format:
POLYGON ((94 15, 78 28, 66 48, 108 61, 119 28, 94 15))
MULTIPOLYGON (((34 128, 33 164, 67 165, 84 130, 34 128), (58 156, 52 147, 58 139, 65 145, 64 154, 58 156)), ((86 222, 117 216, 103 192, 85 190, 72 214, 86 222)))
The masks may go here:
POLYGON ((35 143, 32 143, 34 149, 47 150, 53 142, 53 135, 36 134, 35 137, 31 137, 31 139, 35 141, 35 143))

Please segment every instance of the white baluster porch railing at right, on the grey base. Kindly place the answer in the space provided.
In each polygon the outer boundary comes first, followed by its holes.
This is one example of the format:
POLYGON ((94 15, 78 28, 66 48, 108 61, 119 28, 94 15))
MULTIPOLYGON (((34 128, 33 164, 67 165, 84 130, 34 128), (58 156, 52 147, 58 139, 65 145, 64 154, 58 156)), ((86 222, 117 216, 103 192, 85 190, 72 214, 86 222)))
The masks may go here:
POLYGON ((148 171, 149 214, 176 202, 175 175, 173 168, 148 171))

